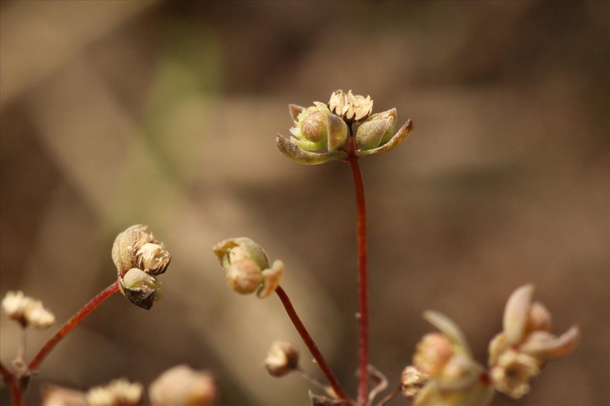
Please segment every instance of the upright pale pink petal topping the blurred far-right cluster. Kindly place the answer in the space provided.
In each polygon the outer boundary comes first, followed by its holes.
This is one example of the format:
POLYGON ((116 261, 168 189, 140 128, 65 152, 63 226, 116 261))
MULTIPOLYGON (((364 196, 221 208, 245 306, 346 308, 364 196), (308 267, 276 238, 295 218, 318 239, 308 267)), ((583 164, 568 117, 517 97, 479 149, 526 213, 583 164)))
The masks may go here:
POLYGON ((509 345, 515 345, 523 339, 533 295, 534 285, 523 285, 506 302, 503 331, 509 345))

